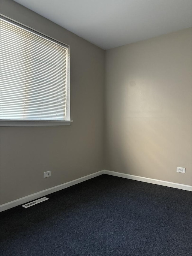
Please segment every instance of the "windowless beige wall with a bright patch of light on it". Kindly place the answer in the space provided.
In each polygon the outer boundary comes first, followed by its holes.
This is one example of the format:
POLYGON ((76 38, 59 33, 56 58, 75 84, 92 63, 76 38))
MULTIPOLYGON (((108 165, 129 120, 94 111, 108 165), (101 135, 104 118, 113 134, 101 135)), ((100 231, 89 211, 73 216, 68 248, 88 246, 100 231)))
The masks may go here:
POLYGON ((107 50, 105 72, 105 169, 192 185, 192 28, 107 50))

